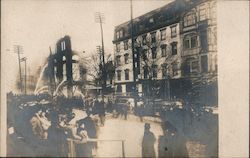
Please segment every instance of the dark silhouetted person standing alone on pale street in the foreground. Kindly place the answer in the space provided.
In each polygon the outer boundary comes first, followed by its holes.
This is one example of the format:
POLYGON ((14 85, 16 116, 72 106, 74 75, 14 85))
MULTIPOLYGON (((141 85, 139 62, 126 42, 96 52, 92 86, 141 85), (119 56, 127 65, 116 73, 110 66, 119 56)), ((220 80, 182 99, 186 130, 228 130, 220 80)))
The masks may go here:
POLYGON ((145 123, 142 140, 142 157, 156 157, 155 155, 155 135, 150 131, 150 124, 145 123))

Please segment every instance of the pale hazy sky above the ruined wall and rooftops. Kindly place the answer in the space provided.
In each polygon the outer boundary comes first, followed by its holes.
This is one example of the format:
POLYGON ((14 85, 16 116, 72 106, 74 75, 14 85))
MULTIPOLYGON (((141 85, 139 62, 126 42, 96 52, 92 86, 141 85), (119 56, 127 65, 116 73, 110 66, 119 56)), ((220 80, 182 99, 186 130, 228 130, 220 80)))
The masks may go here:
MULTIPOLYGON (((159 8, 170 0, 133 0, 133 17, 159 8)), ((13 84, 18 75, 17 54, 13 45, 21 45, 27 57, 28 73, 34 74, 55 49, 56 41, 71 37, 72 49, 85 51, 85 56, 96 52, 101 45, 100 24, 95 13, 105 17, 103 24, 105 53, 113 53, 115 26, 130 20, 129 0, 2 0, 1 2, 2 69, 13 84), (10 62, 11 61, 11 62, 10 62)))

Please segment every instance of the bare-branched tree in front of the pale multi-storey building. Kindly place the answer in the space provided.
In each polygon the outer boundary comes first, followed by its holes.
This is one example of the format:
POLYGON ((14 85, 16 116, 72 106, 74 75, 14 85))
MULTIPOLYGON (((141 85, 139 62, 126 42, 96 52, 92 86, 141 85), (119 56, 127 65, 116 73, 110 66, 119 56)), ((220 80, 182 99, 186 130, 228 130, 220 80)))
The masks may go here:
MULTIPOLYGON (((163 79, 165 79, 163 81, 167 81, 165 86, 169 91, 169 79, 176 75, 176 71, 180 70, 180 53, 173 52, 175 50, 172 48, 175 43, 170 43, 170 38, 165 40, 166 42, 163 44, 160 31, 153 34, 148 33, 146 37, 140 36, 136 39, 135 47, 140 58, 141 72, 143 72, 140 76, 147 83, 144 95, 159 96, 161 84, 157 79, 160 71, 162 71, 163 79)), ((177 43, 175 47, 177 49, 177 43)), ((169 95, 169 93, 165 94, 165 97, 169 95)))

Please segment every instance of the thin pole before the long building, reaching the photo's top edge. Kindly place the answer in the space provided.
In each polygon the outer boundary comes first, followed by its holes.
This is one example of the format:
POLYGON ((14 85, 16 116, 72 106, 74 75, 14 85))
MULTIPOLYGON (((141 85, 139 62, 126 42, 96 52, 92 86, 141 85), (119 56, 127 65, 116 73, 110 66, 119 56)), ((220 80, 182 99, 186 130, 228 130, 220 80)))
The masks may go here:
POLYGON ((130 23, 131 23, 131 30, 130 30, 130 33, 131 33, 131 50, 132 50, 132 56, 133 56, 133 91, 134 91, 134 100, 135 100, 135 106, 137 106, 137 100, 136 100, 136 97, 137 97, 137 88, 136 88, 136 79, 137 79, 137 69, 135 67, 136 63, 136 58, 137 55, 136 55, 136 52, 135 52, 135 48, 134 48, 134 32, 133 32, 133 3, 132 3, 132 0, 130 0, 130 23))

